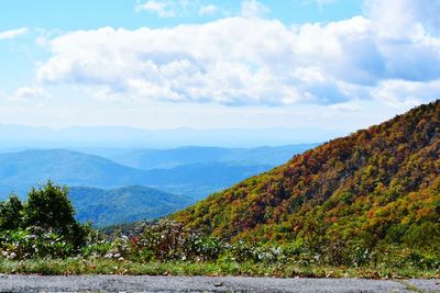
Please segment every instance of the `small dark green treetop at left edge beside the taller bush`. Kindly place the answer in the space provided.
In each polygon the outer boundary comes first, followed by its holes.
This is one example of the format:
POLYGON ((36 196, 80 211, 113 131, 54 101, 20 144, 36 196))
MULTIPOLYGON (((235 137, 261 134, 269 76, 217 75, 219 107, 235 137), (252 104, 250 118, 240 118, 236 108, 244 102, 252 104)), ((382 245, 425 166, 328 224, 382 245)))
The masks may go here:
POLYGON ((8 201, 0 203, 0 230, 14 230, 23 225, 23 204, 12 194, 8 201))

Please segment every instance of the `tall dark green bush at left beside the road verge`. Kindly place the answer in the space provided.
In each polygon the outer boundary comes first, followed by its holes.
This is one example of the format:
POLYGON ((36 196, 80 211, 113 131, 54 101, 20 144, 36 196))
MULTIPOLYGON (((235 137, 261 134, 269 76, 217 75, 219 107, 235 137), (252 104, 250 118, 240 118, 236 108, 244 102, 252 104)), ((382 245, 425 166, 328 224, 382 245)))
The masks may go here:
POLYGON ((48 181, 32 189, 24 204, 12 195, 0 205, 0 249, 6 256, 65 257, 87 243, 89 226, 79 224, 68 189, 48 181))

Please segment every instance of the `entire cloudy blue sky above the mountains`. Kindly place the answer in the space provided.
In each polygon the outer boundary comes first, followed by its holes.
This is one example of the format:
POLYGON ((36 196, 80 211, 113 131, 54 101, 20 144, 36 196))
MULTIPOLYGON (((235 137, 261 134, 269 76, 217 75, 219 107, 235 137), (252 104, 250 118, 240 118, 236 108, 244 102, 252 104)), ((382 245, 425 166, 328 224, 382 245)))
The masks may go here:
POLYGON ((440 97, 440 0, 10 0, 0 124, 352 132, 440 97))

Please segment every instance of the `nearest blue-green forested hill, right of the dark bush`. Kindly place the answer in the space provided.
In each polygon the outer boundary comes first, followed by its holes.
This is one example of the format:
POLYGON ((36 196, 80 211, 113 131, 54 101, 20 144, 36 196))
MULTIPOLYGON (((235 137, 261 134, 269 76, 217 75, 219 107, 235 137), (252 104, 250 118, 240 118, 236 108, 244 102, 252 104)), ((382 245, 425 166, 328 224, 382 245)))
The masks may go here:
POLYGON ((77 211, 76 218, 91 221, 98 227, 162 217, 195 202, 141 185, 113 190, 75 187, 69 190, 69 199, 77 211))

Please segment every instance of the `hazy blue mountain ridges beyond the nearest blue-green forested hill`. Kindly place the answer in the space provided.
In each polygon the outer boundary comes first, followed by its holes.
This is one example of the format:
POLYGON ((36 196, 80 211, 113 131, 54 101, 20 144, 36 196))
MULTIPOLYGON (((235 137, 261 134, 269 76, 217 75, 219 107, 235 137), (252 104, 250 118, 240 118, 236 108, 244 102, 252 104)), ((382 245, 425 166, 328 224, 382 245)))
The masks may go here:
POLYGON ((0 199, 10 192, 24 195, 31 187, 50 179, 69 187, 101 189, 141 184, 201 199, 266 171, 279 160, 302 153, 310 146, 96 151, 120 164, 97 155, 65 149, 0 154, 0 199))

